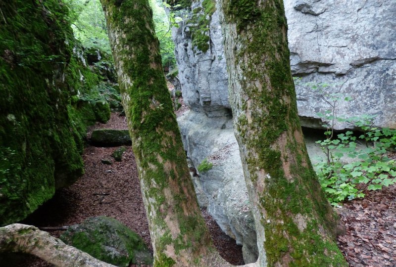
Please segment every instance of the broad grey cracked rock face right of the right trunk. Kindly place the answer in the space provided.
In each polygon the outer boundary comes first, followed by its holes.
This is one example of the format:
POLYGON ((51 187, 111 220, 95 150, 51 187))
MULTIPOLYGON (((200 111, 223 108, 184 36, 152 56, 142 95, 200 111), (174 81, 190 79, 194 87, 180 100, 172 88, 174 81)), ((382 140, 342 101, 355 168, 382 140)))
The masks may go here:
MULTIPOLYGON (((393 0, 285 0, 292 73, 302 82, 334 84, 341 116, 377 115, 375 125, 396 128, 396 5, 393 0)), ((329 110, 313 93, 297 87, 303 125, 329 110)), ((337 129, 351 127, 337 124, 337 129)))

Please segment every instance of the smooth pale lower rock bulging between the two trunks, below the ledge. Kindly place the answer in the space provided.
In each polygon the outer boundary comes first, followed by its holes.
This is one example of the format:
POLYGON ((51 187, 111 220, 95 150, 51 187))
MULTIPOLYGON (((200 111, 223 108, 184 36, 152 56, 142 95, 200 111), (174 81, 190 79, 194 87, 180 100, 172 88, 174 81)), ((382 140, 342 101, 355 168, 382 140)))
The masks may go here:
POLYGON ((232 119, 189 111, 178 123, 194 169, 204 159, 213 164, 209 170, 198 171, 198 176, 192 172, 199 205, 207 207, 221 229, 244 246, 245 263, 255 262, 256 234, 232 119))

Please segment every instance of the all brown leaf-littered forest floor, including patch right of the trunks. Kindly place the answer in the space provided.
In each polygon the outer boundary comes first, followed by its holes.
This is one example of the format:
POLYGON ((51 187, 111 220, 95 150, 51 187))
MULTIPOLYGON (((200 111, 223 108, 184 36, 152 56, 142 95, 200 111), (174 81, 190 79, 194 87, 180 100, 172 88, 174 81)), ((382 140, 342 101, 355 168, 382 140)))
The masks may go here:
MULTIPOLYGON (((183 105, 177 115, 185 110, 183 105)), ((106 125, 98 123, 91 131, 99 128, 127 129, 127 124, 125 117, 114 113, 106 125)), ((57 191, 53 199, 23 223, 40 227, 64 226, 81 223, 89 217, 108 216, 137 232, 152 249, 134 154, 128 147, 122 161, 116 162, 110 157, 115 149, 88 146, 83 154, 84 176, 72 186, 57 191), (102 164, 102 159, 110 159, 112 165, 102 164), (103 193, 108 195, 100 195, 103 193)), ((338 208, 341 220, 346 224, 345 235, 338 237, 339 247, 351 267, 395 267, 396 186, 365 193, 364 199, 338 208)), ((243 264, 242 247, 224 234, 205 210, 202 215, 220 255, 234 265, 243 264)), ((61 232, 51 234, 58 237, 61 232)), ((52 265, 31 257, 20 266, 52 265)))

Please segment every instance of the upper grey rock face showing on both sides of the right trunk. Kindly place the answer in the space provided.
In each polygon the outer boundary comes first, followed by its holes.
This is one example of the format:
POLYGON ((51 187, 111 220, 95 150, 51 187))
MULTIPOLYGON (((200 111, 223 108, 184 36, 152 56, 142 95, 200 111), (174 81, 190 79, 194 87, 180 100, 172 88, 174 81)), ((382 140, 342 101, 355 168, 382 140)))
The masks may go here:
MULTIPOLYGON (((302 82, 333 84, 329 93, 350 96, 351 101, 337 103, 338 115, 377 115, 374 126, 396 128, 396 6, 392 2, 345 5, 340 0, 286 0, 285 9, 293 74, 302 82)), ((192 9, 198 6, 195 2, 192 9)), ((230 106, 218 14, 211 16, 210 49, 205 52, 193 47, 191 29, 196 25, 191 16, 173 32, 184 100, 209 117, 222 116, 230 106)), ((303 126, 322 127, 316 113, 330 109, 323 99, 297 87, 297 105, 303 126)), ((336 129, 346 127, 351 125, 336 125, 336 129)))

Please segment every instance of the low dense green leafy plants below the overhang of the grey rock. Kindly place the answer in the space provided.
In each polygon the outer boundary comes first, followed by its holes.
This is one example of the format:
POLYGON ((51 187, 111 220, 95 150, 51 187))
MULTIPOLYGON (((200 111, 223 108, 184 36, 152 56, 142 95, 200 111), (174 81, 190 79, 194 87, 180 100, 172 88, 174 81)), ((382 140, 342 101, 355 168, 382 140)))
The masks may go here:
POLYGON ((396 183, 396 130, 362 126, 362 134, 352 131, 318 141, 328 160, 315 164, 323 190, 332 205, 364 197, 364 190, 380 190, 396 183))

